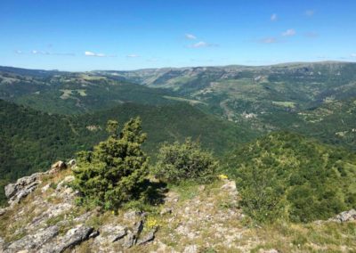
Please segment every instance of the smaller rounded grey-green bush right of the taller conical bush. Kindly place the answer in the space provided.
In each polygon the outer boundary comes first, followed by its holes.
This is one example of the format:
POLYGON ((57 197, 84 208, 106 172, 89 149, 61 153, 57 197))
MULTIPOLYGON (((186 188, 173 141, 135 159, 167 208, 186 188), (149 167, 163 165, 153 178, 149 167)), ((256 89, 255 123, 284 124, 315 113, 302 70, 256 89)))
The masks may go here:
POLYGON ((217 166, 211 153, 202 151, 198 142, 187 138, 182 144, 175 142, 162 145, 154 174, 173 184, 187 179, 204 183, 213 179, 217 166))

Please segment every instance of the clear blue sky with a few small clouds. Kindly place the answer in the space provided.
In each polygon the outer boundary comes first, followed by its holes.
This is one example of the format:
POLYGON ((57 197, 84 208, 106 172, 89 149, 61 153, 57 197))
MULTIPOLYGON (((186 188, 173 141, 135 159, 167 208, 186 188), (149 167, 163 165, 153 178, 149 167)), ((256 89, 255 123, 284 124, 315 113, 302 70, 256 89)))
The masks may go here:
POLYGON ((354 0, 1 0, 0 65, 143 69, 356 61, 354 0))

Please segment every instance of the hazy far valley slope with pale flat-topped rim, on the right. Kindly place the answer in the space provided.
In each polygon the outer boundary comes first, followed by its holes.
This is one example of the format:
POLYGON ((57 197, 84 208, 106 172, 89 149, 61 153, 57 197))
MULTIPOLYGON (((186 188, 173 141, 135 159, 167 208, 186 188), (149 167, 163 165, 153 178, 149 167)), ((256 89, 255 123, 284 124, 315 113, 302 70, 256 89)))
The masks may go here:
MULTIPOLYGON (((94 72, 95 73, 95 72, 94 72)), ((165 87, 206 104, 210 112, 270 130, 263 117, 320 106, 356 95, 356 63, 311 62, 262 67, 225 66, 182 69, 101 71, 145 86, 165 87)))

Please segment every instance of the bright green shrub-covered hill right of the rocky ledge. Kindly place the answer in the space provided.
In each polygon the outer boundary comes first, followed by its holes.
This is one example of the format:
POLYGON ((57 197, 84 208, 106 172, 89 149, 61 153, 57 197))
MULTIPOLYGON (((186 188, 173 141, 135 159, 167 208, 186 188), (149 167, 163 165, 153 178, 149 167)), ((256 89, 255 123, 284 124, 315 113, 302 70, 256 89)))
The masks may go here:
POLYGON ((355 207, 355 162, 348 151, 282 132, 234 151, 229 167, 255 221, 311 222, 355 207))

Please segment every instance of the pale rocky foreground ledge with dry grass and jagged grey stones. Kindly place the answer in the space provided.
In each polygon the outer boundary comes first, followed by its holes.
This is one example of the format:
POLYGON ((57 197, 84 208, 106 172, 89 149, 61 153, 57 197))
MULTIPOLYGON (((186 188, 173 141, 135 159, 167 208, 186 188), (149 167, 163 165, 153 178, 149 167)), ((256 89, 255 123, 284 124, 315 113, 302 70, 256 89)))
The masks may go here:
POLYGON ((354 252, 356 211, 312 224, 248 224, 233 181, 171 187, 162 205, 104 212, 75 203, 70 167, 6 186, 0 252, 354 252), (331 233, 330 233, 331 231, 331 233))

